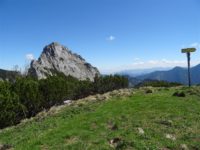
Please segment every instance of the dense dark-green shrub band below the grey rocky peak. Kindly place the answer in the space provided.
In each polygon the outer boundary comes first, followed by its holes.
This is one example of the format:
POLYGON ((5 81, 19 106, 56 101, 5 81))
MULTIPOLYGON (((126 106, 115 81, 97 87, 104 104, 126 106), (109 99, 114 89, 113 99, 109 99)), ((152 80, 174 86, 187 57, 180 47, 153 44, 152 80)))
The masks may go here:
POLYGON ((128 79, 119 75, 96 76, 94 82, 64 74, 42 80, 18 77, 14 82, 0 81, 0 128, 15 125, 67 99, 77 100, 126 87, 128 79))

